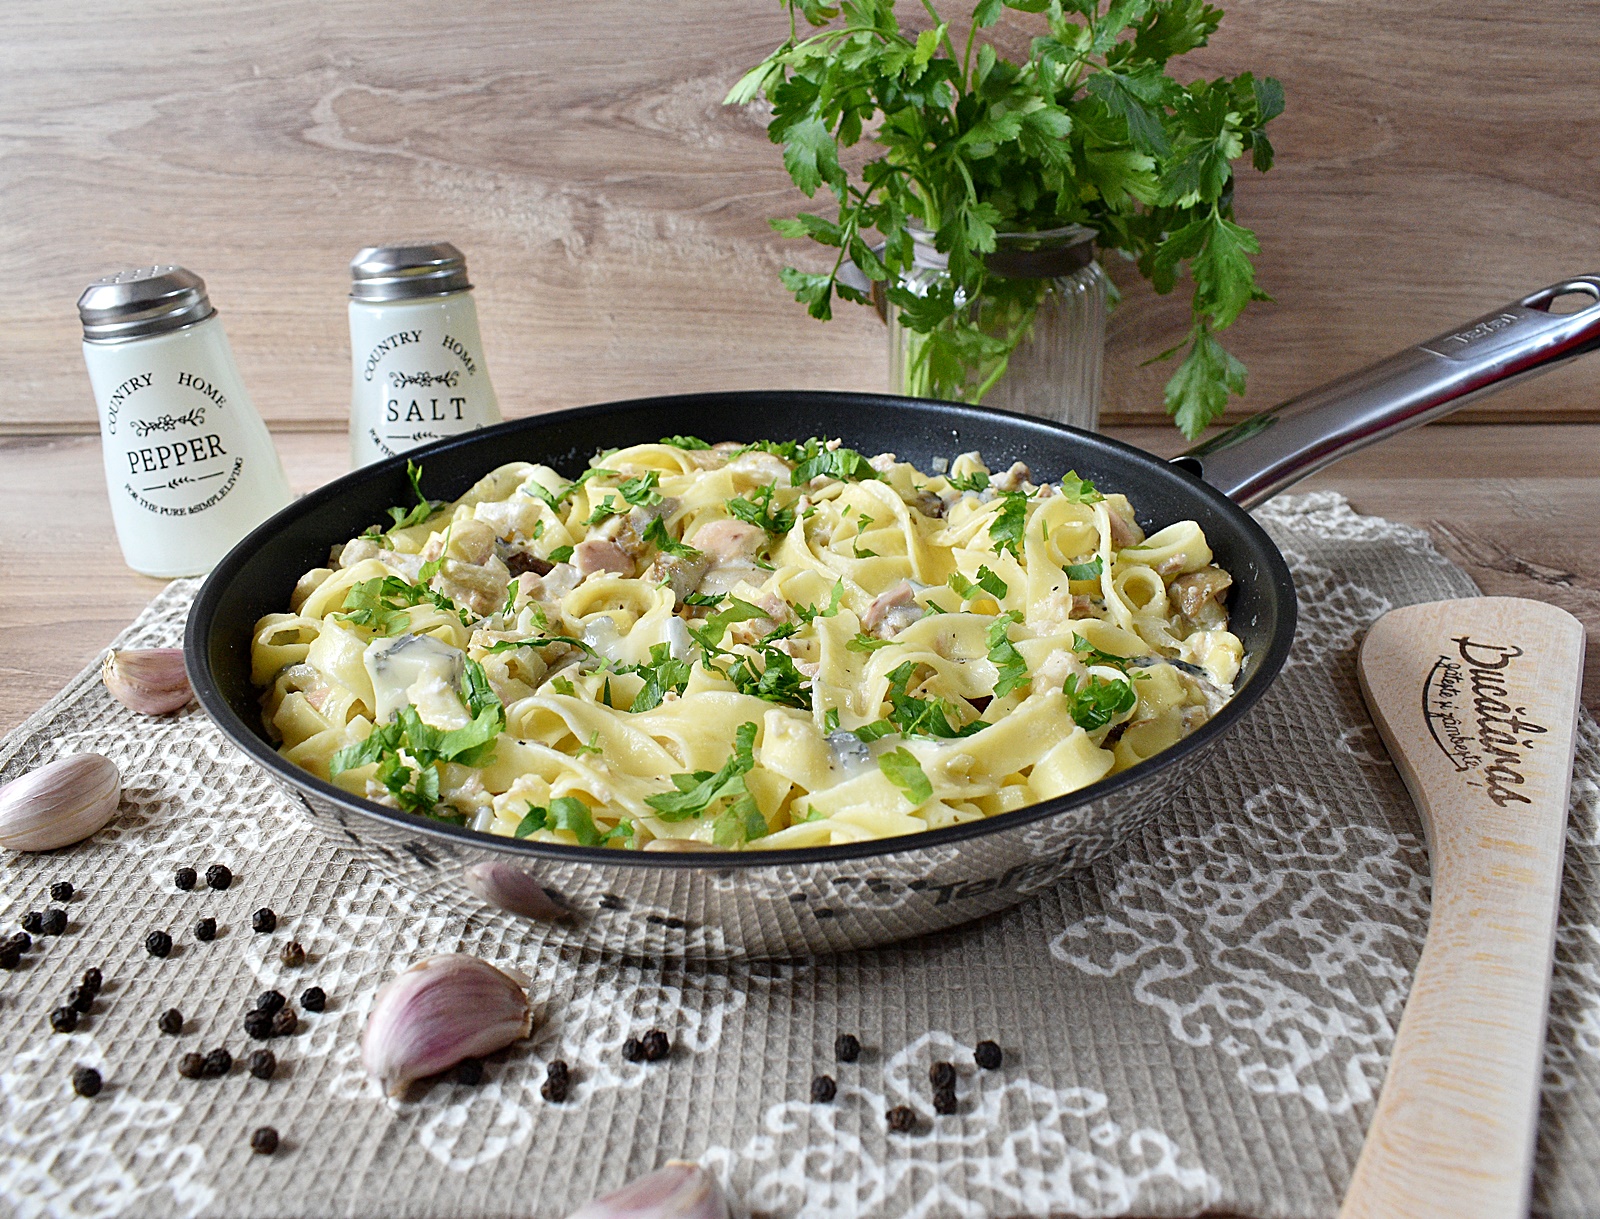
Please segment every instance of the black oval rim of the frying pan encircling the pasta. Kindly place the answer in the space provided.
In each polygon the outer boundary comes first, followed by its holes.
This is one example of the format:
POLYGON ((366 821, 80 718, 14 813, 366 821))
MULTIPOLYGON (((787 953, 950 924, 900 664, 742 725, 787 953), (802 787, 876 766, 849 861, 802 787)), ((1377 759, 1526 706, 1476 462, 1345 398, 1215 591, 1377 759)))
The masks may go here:
MULTIPOLYGON (((718 437, 720 438, 738 438, 738 437, 718 437)), ((747 440, 755 440, 760 437, 750 435, 747 440)), ((848 443, 850 437, 845 435, 843 440, 848 443)), ((637 443, 637 442, 635 442, 637 443)), ((570 464, 576 454, 560 453, 549 454, 544 458, 547 464, 570 464)), ((582 461, 587 461, 592 454, 581 454, 582 461)), ((1000 456, 1000 461, 1011 461, 1010 454, 1000 456)), ((486 469, 483 470, 488 472, 486 469)), ((574 477, 578 470, 563 470, 566 477, 574 477)), ((1125 491, 1125 488, 1106 488, 1110 491, 1125 491)), ((1134 496, 1138 491, 1134 491, 1134 496)), ((1136 506, 1138 507, 1138 506, 1136 506)), ((330 538, 328 546, 336 544, 341 539, 330 538)), ((514 419, 506 424, 498 424, 494 427, 482 429, 472 432, 466 437, 458 437, 445 442, 435 442, 422 448, 413 450, 402 458, 392 458, 384 462, 376 462, 373 466, 355 470, 341 478, 334 478, 331 483, 312 491, 309 496, 298 499, 290 507, 283 509, 275 517, 269 518, 259 528, 256 528, 250 536, 246 536, 229 555, 213 570, 211 576, 206 579, 200 594, 195 597, 194 606, 189 614, 189 627, 184 635, 184 651, 186 662, 189 669, 189 680, 194 685, 195 696, 200 705, 205 709, 206 715, 222 729, 224 736, 245 750, 258 765, 264 766, 275 779, 278 779, 286 787, 293 789, 309 789, 325 800, 339 805, 352 813, 358 813, 365 817, 373 817, 397 829, 403 829, 411 833, 422 833, 426 837, 456 841, 461 845, 482 846, 485 841, 493 845, 498 853, 512 853, 525 856, 528 859, 541 859, 550 862, 590 862, 590 864, 608 864, 613 867, 646 867, 646 869, 762 869, 771 867, 774 864, 826 864, 826 862, 843 862, 848 859, 866 859, 893 856, 901 851, 915 851, 930 846, 941 846, 949 843, 958 843, 970 838, 986 837, 989 833, 1003 832, 1019 825, 1026 825, 1034 821, 1042 821, 1045 817, 1056 816, 1059 813, 1070 811, 1082 805, 1093 803, 1102 797, 1114 795, 1126 787, 1142 782, 1149 774, 1166 766, 1178 765, 1182 758, 1194 752, 1205 750, 1213 741, 1221 737, 1224 733, 1230 731, 1238 720, 1242 720, 1251 707, 1266 694, 1272 680, 1277 677, 1283 662, 1288 659, 1290 648, 1294 641, 1294 622, 1296 622, 1296 600, 1294 600, 1294 581, 1290 574, 1288 565, 1278 554, 1277 546, 1266 534, 1266 531, 1250 518, 1248 514, 1242 512, 1237 504, 1234 504, 1221 491, 1216 491, 1200 478, 1194 477, 1182 467, 1166 466, 1162 467, 1157 459, 1150 458, 1149 453, 1134 448, 1133 445, 1125 445, 1120 440, 1110 437, 1096 435, 1091 432, 1083 432, 1075 427, 1067 427, 1064 424, 1056 424, 1046 419, 1037 419, 1034 416, 1014 414, 1011 411, 1000 411, 986 406, 966 406, 962 403, 950 402, 934 402, 925 398, 898 398, 894 395, 870 395, 870 394, 848 394, 848 392, 829 392, 829 390, 752 390, 741 392, 731 390, 723 394, 680 394, 667 395, 659 398, 630 398, 626 402, 614 403, 598 403, 594 406, 578 406, 566 411, 552 411, 549 414, 530 416, 525 419, 514 419), (1208 502, 1214 510, 1235 518, 1235 523, 1243 531, 1253 534, 1253 541, 1258 544, 1261 554, 1272 563, 1272 568, 1261 573, 1261 579, 1269 581, 1275 586, 1277 603, 1280 606, 1280 621, 1272 633, 1270 643, 1266 651, 1246 656, 1246 669, 1242 670, 1240 686, 1232 699, 1205 725, 1202 725, 1195 733, 1176 742, 1174 745, 1162 750, 1158 755, 1147 758, 1136 766, 1130 766, 1126 771, 1114 774, 1110 777, 1101 779, 1099 782, 1090 784, 1078 792, 1072 792, 1066 797, 1058 797, 1054 800, 1045 800, 1037 805, 1027 805, 1013 813, 1002 813, 992 817, 982 817, 979 821, 963 822, 960 825, 949 825, 939 830, 922 830, 918 833, 899 835, 896 838, 877 838, 864 843, 846 843, 840 846, 811 846, 811 848, 789 848, 782 851, 762 851, 762 849, 744 849, 744 851, 618 851, 603 846, 565 846, 558 843, 534 843, 522 838, 506 838, 496 833, 486 833, 482 830, 472 830, 464 825, 450 825, 446 822, 434 821, 432 817, 419 816, 414 813, 405 813, 402 809, 389 808, 387 805, 379 805, 362 797, 350 795, 342 787, 336 787, 331 782, 318 779, 310 771, 306 771, 290 761, 286 761, 275 749, 272 749, 261 734, 258 725, 248 723, 234 705, 224 697, 218 688, 208 656, 208 643, 211 635, 211 624, 214 621, 216 603, 221 590, 227 586, 230 579, 238 574, 243 562, 256 552, 256 549, 267 539, 275 536, 285 520, 299 517, 315 507, 336 501, 344 496, 352 483, 352 480, 368 480, 368 478, 392 478, 397 474, 403 474, 406 461, 416 461, 424 466, 427 459, 434 454, 451 451, 470 445, 472 448, 485 446, 486 442, 498 435, 522 435, 526 432, 542 432, 557 429, 568 422, 582 422, 597 418, 606 418, 613 414, 626 414, 637 411, 640 408, 659 408, 662 413, 670 413, 680 410, 685 405, 709 405, 709 403, 749 403, 755 400, 773 400, 774 397, 786 397, 797 402, 814 402, 814 403, 834 403, 837 408, 898 408, 907 410, 918 419, 938 418, 939 422, 949 422, 950 419, 960 418, 1000 418, 1014 419, 1024 422, 1035 429, 1048 429, 1050 432, 1059 434, 1062 445, 1075 445, 1080 448, 1110 448, 1120 451, 1126 458, 1136 462, 1152 464, 1155 470, 1170 472, 1171 477, 1182 478, 1189 483, 1189 490, 1194 496, 1208 502)))

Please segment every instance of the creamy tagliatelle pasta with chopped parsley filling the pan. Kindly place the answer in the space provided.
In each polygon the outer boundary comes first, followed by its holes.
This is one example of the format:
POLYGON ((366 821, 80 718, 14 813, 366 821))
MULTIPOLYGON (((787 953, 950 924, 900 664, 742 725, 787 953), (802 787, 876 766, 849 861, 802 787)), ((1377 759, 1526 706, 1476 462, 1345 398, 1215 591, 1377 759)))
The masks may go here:
POLYGON ((952 825, 1158 753, 1227 701, 1194 522, 976 453, 670 437, 421 493, 256 624, 290 761, 384 805, 619 849, 952 825))

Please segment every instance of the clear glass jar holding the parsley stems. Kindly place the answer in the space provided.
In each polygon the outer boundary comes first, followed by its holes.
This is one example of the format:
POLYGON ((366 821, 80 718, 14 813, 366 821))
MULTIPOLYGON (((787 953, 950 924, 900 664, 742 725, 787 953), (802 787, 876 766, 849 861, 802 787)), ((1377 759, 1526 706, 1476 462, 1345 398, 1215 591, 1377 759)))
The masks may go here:
MULTIPOLYGON (((912 230, 914 261, 901 286, 918 296, 949 277, 933 237, 912 230)), ((979 336, 955 347, 950 323, 920 334, 888 307, 890 392, 958 398, 1094 430, 1106 354, 1106 272, 1094 261, 1094 230, 1080 226, 1000 234, 987 256, 982 296, 958 318, 979 336), (941 333, 942 331, 942 333, 941 333)))

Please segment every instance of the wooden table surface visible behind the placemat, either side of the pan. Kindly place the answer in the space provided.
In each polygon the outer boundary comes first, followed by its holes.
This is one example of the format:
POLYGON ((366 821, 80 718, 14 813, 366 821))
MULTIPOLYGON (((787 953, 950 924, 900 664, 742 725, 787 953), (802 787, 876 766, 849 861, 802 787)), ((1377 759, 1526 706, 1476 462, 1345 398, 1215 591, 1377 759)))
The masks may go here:
MULTIPOLYGON (((1170 429, 1117 429, 1157 453, 1170 429)), ((346 470, 336 432, 280 432, 296 491, 346 470)), ((1432 426, 1347 458, 1296 490, 1421 525, 1488 594, 1534 597, 1589 633, 1584 705, 1600 713, 1600 426, 1432 426)), ((0 733, 93 661, 162 582, 123 566, 96 437, 0 440, 0 733)))

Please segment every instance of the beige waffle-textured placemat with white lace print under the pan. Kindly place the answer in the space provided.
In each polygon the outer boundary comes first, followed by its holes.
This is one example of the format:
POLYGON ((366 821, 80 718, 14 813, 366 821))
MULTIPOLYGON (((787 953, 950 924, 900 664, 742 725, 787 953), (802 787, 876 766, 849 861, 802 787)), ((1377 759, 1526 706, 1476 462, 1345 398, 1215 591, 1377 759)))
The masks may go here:
MULTIPOLYGON (((1125 851, 1006 915, 878 952, 798 965, 643 965, 563 950, 501 918, 446 915, 312 837, 197 712, 139 720, 86 670, 0 745, 0 777, 98 750, 122 816, 51 856, 0 859, 0 921, 70 880, 70 925, 0 974, 0 1209, 48 1216, 563 1216, 672 1157, 701 1160, 750 1214, 1333 1216, 1373 1110, 1427 918, 1427 859, 1373 733, 1354 649, 1386 610, 1469 597, 1426 534, 1333 494, 1261 520, 1294 568, 1296 651, 1203 781, 1125 851), (179 865, 235 875, 181 893, 179 865), (258 936, 269 905, 278 931, 258 936), (192 926, 211 915, 214 942, 192 926), (178 942, 155 960, 144 936, 178 942), (278 961, 288 939, 309 960, 278 961), (381 981, 466 950, 533 977, 538 1022, 480 1085, 386 1101, 358 1062, 381 981), (88 966, 106 989, 72 1033, 48 1014, 88 966), (184 1080, 186 1051, 254 1046, 256 992, 322 985, 328 1009, 272 1043, 278 1075, 184 1080), (165 1037, 155 1017, 186 1022, 165 1037), (648 1027, 666 1062, 622 1061, 648 1027), (866 1053, 832 1062, 837 1032, 866 1053), (971 1046, 1006 1061, 978 1072, 971 1046), (573 1069, 566 1104, 544 1062, 573 1069), (960 1065, 934 1118, 928 1065, 960 1065), (106 1089, 72 1094, 74 1065, 106 1089), (838 1080, 830 1105, 811 1077, 838 1080), (922 1131, 885 1131, 910 1104, 922 1131), (254 1126, 283 1137, 251 1155, 254 1126)), ((173 584, 120 645, 182 633, 173 584)), ((1574 779, 1534 1211, 1600 1198, 1600 733, 1574 779)))

